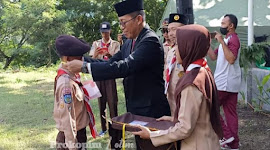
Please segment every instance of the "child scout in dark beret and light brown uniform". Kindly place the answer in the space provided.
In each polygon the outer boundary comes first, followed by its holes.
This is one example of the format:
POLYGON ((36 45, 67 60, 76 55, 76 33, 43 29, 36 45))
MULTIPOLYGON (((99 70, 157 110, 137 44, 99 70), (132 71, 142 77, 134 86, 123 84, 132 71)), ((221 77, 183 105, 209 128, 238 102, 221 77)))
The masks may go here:
MULTIPOLYGON (((56 51, 61 61, 66 63, 82 59, 90 47, 73 36, 61 35, 56 39, 56 51)), ((56 138, 57 149, 85 149, 87 141, 86 126, 90 126, 93 137, 96 135, 94 116, 85 103, 85 95, 78 73, 71 73, 60 65, 55 78, 53 117, 59 133, 56 138)))

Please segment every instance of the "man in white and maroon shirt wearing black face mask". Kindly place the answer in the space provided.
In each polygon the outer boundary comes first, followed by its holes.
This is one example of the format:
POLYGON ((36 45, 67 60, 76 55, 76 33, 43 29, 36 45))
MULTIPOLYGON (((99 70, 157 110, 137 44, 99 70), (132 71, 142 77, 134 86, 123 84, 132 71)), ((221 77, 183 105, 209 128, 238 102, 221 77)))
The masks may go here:
POLYGON ((212 48, 208 51, 208 56, 212 60, 217 60, 215 70, 215 82, 218 89, 220 106, 224 111, 224 116, 220 117, 224 138, 220 140, 222 148, 238 150, 238 116, 237 116, 237 95, 241 86, 240 40, 235 32, 237 28, 237 18, 233 14, 224 16, 221 22, 220 32, 214 37, 220 44, 216 50, 212 48))

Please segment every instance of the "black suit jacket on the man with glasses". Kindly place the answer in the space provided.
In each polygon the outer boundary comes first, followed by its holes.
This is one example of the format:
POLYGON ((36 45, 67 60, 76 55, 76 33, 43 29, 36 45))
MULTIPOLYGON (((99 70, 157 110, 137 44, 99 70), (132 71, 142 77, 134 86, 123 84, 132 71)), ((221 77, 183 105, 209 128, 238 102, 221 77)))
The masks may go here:
POLYGON ((132 41, 125 41, 121 50, 109 61, 85 58, 92 62, 93 79, 124 78, 128 112, 154 118, 170 115, 164 94, 164 52, 159 38, 147 25, 139 34, 131 53, 132 41))

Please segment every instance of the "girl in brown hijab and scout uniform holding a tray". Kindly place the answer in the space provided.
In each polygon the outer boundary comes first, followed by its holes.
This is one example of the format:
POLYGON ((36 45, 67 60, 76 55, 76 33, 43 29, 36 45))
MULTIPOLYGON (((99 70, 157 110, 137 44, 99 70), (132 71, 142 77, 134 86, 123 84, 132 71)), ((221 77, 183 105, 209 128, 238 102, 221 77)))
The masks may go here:
POLYGON ((143 126, 133 132, 143 139, 151 139, 154 146, 181 140, 181 150, 219 150, 223 137, 219 120, 216 85, 205 56, 210 47, 210 34, 201 25, 187 25, 177 29, 177 61, 185 75, 176 86, 174 118, 163 116, 158 120, 174 121, 167 130, 150 131, 143 126))

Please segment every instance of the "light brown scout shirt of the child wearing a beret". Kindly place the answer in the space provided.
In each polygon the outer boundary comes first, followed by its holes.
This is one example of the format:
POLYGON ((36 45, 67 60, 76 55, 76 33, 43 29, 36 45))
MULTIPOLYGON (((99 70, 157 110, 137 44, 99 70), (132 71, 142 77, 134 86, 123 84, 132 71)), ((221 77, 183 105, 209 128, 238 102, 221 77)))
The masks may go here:
POLYGON ((77 131, 89 125, 89 115, 84 104, 83 91, 69 78, 74 76, 65 71, 68 74, 61 75, 56 81, 53 117, 56 128, 64 132, 66 143, 75 143, 77 131), (65 103, 65 98, 68 99, 65 97, 67 95, 71 95, 70 104, 65 103))

